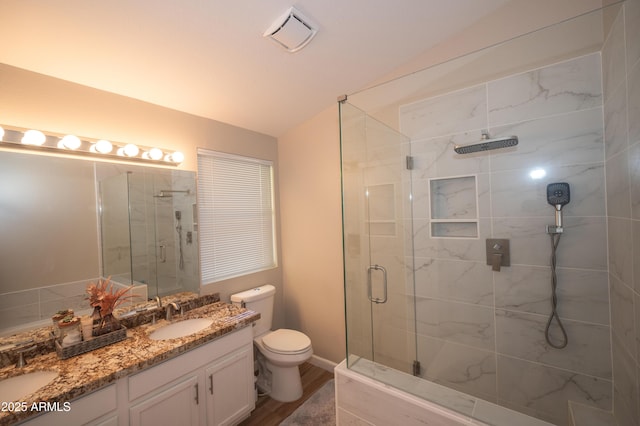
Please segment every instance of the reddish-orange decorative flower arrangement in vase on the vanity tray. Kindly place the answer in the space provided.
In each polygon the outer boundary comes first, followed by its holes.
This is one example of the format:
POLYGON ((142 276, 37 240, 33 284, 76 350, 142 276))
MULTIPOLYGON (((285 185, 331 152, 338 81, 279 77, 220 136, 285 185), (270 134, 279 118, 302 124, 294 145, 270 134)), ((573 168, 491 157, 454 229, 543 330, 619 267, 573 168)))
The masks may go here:
POLYGON ((94 335, 109 333, 120 328, 120 322, 113 316, 113 311, 120 304, 135 296, 123 297, 133 286, 114 290, 111 277, 100 278, 98 283, 91 283, 87 286, 89 304, 93 308, 94 320, 99 320, 98 327, 94 329, 94 335))

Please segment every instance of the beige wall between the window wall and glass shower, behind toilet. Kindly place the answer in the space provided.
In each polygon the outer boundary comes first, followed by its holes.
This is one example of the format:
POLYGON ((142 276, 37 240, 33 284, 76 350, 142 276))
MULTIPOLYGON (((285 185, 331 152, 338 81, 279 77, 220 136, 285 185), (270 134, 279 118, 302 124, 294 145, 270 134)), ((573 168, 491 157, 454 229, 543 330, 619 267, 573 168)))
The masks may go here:
POLYGON ((345 357, 338 108, 278 140, 286 324, 314 354, 345 357))

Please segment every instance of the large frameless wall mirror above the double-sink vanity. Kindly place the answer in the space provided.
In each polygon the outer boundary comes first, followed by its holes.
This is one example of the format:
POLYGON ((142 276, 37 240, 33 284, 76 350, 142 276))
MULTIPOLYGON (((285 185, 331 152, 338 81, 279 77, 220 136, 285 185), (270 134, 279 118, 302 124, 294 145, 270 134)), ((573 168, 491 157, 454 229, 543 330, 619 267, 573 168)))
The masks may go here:
POLYGON ((100 277, 199 289, 194 172, 0 151, 0 236, 0 335, 88 308, 100 277))

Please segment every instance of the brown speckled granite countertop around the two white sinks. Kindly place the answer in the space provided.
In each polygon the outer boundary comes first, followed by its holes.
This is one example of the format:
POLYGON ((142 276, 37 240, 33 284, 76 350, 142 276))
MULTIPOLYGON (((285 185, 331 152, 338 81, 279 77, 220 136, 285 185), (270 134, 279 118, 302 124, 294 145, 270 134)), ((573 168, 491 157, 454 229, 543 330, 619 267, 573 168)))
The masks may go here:
MULTIPOLYGON (((51 383, 22 398, 29 406, 34 402, 65 402, 97 390, 126 377, 174 358, 190 349, 214 340, 234 330, 251 325, 260 314, 225 302, 215 302, 179 315, 172 322, 189 318, 211 318, 213 324, 187 337, 152 340, 149 333, 169 324, 162 319, 156 324, 144 324, 127 330, 127 338, 83 355, 61 360, 55 352, 27 358, 28 365, 0 369, 0 380, 33 371, 58 373, 51 383)), ((0 412, 0 425, 11 425, 32 413, 0 412)), ((33 413, 37 414, 37 413, 33 413)))

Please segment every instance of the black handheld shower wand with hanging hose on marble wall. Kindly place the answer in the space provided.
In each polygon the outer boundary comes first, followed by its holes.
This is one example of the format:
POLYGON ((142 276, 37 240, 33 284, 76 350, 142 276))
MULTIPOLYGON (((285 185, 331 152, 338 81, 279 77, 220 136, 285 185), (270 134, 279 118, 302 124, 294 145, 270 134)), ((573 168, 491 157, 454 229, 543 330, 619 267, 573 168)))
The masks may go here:
POLYGON ((560 237, 564 232, 562 227, 562 208, 569 204, 571 201, 571 193, 569 191, 569 184, 566 182, 556 182, 547 185, 547 202, 551 204, 556 213, 556 224, 547 225, 547 234, 551 236, 551 315, 547 321, 547 326, 544 331, 544 337, 547 343, 556 349, 562 349, 569 343, 567 332, 560 321, 558 316, 558 296, 556 295, 556 288, 558 287, 558 276, 556 274, 556 251, 558 244, 560 243, 560 237), (559 344, 551 341, 549 329, 551 328, 551 322, 555 317, 560 332, 562 333, 562 341, 559 344))

